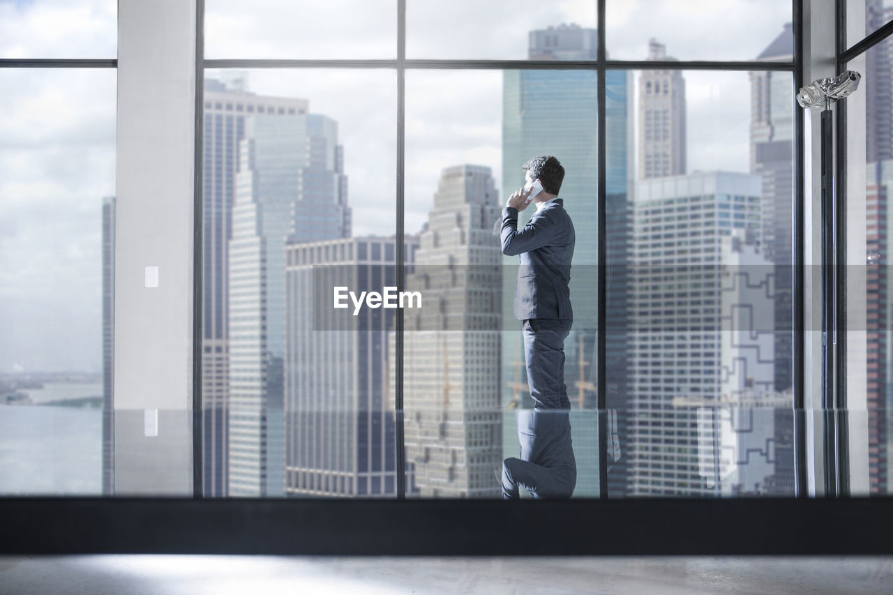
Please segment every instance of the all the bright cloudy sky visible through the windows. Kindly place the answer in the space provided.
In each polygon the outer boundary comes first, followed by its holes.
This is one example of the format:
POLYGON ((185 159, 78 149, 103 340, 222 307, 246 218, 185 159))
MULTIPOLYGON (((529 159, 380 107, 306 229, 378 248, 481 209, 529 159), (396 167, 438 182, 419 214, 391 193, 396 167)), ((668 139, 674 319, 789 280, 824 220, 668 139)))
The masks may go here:
MULTIPOLYGON (((115 0, 0 0, 0 57, 113 58, 115 0)), ((394 58, 396 1, 206 0, 208 58, 394 58)), ((777 0, 609 0, 606 43, 642 59, 753 59, 790 21, 777 0)), ((595 2, 407 0, 409 58, 525 58, 527 33, 596 26, 595 2)), ((209 72, 209 75, 216 74, 209 72)), ((638 73, 636 73, 638 75, 638 73)), ((747 171, 747 74, 686 72, 689 171, 747 171)), ((395 232, 396 74, 247 72, 260 95, 299 96, 338 121, 355 234, 395 232)), ((0 70, 0 373, 101 369, 101 205, 114 194, 113 70, 0 70)), ((595 114, 593 114, 595 117, 595 114)), ((440 171, 501 168, 502 73, 406 75, 406 231, 440 171)), ((503 197, 505 200, 505 197, 503 197)))

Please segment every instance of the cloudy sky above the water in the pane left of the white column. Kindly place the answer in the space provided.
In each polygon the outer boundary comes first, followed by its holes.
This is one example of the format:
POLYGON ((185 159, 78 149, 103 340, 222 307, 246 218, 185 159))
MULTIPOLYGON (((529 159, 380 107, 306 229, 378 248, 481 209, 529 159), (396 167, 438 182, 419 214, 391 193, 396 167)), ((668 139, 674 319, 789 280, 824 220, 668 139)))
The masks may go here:
POLYGON ((0 369, 101 362, 115 78, 113 69, 0 71, 0 369))

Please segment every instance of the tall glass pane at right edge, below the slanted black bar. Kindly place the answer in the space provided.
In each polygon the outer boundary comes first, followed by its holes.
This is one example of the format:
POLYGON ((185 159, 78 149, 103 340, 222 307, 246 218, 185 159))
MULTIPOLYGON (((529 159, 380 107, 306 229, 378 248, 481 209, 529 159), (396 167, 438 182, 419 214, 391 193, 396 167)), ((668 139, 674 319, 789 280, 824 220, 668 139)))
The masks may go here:
POLYGON ((891 42, 884 39, 847 63, 848 69, 863 74, 859 88, 847 97, 847 113, 858 114, 847 117, 847 385, 855 381, 863 386, 864 400, 861 394, 847 394, 847 407, 853 424, 849 432, 867 437, 867 448, 850 448, 850 467, 868 478, 860 495, 889 493, 893 436, 889 415, 893 396, 889 255, 893 219, 888 198, 893 189, 891 42))

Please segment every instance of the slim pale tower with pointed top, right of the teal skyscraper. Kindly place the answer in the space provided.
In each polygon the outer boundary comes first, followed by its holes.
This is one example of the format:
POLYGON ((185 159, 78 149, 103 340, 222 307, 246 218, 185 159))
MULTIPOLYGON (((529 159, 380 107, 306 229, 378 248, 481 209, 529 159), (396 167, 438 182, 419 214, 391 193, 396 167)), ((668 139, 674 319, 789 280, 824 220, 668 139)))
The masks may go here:
MULTIPOLYGON (((648 60, 675 60, 652 38, 648 60)), ((638 177, 686 172, 685 77, 678 70, 638 75, 638 177)))

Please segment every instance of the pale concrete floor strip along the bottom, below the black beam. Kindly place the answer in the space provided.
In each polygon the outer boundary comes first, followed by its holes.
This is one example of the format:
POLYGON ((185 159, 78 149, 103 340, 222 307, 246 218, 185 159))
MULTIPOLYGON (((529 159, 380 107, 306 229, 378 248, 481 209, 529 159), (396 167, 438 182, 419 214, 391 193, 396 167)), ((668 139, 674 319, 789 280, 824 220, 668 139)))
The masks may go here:
POLYGON ((0 557, 0 593, 893 593, 893 557, 0 557))

